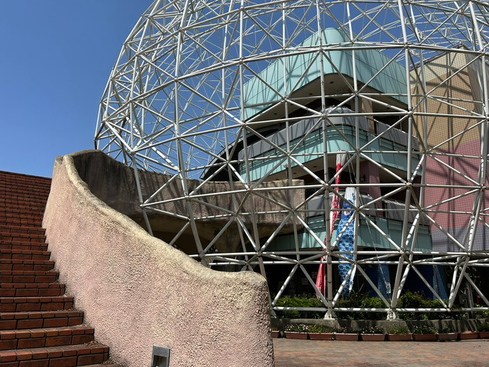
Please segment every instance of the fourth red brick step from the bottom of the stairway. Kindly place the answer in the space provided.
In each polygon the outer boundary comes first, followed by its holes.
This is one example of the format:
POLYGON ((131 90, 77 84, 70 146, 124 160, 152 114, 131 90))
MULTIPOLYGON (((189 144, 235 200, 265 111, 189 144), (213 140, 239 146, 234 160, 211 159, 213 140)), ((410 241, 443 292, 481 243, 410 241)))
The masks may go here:
POLYGON ((0 312, 60 311, 73 307, 73 297, 1 297, 0 312))

